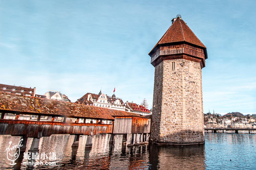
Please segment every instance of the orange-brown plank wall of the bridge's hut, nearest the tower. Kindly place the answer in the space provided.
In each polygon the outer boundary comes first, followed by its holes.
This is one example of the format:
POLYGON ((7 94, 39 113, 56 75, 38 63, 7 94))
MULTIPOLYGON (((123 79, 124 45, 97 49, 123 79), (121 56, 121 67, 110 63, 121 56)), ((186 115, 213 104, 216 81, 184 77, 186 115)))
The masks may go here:
POLYGON ((132 133, 150 133, 151 119, 132 117, 132 133))

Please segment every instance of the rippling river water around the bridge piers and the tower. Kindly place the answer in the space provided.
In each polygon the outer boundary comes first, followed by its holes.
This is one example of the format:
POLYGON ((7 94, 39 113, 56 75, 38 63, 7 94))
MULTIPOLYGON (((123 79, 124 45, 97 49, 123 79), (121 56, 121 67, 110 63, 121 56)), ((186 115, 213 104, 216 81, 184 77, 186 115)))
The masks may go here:
MULTIPOLYGON (((43 137, 39 154, 56 160, 40 158, 36 162, 54 161, 56 165, 24 165, 28 160, 20 153, 15 161, 7 159, 9 141, 18 144, 20 137, 0 136, 0 169, 256 169, 256 134, 205 133, 205 144, 197 146, 140 145, 128 148, 117 135, 109 145, 110 135, 93 136, 91 149, 84 149, 87 136, 81 136, 78 148, 71 148, 74 135, 43 137), (231 160, 231 161, 230 161, 231 160)), ((27 142, 28 151, 32 139, 27 142)), ((25 153, 26 153, 25 152, 25 153)), ((10 158, 9 158, 10 159, 10 158)))

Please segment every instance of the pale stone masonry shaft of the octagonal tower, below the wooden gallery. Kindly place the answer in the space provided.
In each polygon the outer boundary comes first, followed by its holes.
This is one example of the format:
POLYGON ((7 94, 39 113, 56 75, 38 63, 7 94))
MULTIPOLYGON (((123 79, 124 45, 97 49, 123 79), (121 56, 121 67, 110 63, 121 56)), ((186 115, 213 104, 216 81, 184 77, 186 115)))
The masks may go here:
POLYGON ((154 143, 204 143, 200 64, 185 59, 164 60, 158 64, 153 107, 151 139, 154 143))

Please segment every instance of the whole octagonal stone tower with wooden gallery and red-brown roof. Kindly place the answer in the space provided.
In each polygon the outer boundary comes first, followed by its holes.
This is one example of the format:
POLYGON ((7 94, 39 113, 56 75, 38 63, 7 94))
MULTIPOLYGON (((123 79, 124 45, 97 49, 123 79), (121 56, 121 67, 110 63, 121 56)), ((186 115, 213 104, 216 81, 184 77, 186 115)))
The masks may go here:
POLYGON ((206 47, 177 15, 148 55, 155 67, 152 142, 204 143, 201 69, 207 59, 206 47))

